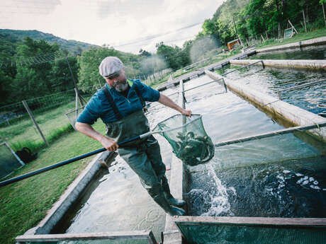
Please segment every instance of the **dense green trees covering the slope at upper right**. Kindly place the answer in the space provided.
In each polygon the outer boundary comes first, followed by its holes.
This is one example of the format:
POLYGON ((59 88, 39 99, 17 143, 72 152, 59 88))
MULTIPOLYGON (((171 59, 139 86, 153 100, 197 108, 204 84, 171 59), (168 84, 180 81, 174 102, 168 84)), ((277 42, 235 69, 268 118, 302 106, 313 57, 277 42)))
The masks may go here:
MULTIPOLYGON (((240 37, 282 37, 293 23, 297 30, 315 30, 325 26, 322 8, 326 0, 227 0, 203 23, 199 37, 213 35, 221 43, 240 37)), ((300 32, 300 31, 299 31, 300 32)))

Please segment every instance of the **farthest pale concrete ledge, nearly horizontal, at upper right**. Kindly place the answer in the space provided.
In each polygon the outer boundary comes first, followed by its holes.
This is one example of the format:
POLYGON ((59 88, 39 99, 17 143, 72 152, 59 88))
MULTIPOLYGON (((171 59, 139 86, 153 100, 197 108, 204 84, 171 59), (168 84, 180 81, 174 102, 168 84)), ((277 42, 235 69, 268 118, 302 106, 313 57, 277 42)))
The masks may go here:
MULTIPOLYGON (((271 66, 276 68, 294 68, 294 69, 315 69, 326 70, 326 60, 319 59, 243 59, 230 60, 230 64, 248 65, 254 62, 264 62, 264 66, 271 66)), ((262 62, 254 65, 262 66, 262 62)))

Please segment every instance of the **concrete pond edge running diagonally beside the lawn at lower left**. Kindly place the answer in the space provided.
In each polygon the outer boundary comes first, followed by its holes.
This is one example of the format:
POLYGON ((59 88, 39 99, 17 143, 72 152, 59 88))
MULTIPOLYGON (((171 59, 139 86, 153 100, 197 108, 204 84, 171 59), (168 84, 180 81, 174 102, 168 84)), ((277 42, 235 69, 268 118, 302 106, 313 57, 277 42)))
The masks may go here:
POLYGON ((60 199, 53 204, 52 208, 47 212, 45 218, 38 223, 34 228, 30 228, 26 231, 25 235, 39 235, 48 234, 55 226, 55 224, 60 221, 64 213, 72 206, 72 204, 77 200, 79 194, 84 190, 89 181, 101 168, 101 161, 106 161, 106 158, 110 156, 111 153, 105 151, 100 153, 93 158, 91 163, 84 168, 84 170, 79 174, 79 176, 69 185, 64 194, 61 195, 60 199))

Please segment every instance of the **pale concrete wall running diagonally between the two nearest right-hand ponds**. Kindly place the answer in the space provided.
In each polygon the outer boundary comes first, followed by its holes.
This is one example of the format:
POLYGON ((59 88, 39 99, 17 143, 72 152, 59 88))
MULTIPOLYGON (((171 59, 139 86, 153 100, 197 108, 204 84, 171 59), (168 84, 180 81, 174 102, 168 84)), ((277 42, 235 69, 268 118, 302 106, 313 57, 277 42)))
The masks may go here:
MULTIPOLYGON (((321 122, 326 122, 326 119, 315 115, 312 112, 298 108, 295 105, 283 102, 279 98, 274 98, 271 95, 255 91, 252 88, 247 88, 241 84, 234 83, 232 80, 227 79, 219 74, 215 74, 211 71, 206 70, 206 74, 212 79, 221 79, 224 78, 227 88, 240 95, 245 100, 249 100, 258 105, 259 107, 269 110, 276 117, 281 117, 283 120, 286 120, 294 125, 306 125, 306 124, 317 124, 321 122)), ((317 137, 320 141, 326 142, 326 128, 312 129, 307 131, 313 136, 317 137)))

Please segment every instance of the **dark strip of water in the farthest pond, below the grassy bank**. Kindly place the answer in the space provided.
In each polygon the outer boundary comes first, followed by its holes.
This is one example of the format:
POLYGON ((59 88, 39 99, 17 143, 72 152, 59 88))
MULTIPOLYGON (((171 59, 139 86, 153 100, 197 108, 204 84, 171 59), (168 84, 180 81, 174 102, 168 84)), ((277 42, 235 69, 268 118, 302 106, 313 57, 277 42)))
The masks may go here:
POLYGON ((326 59, 326 46, 303 47, 301 50, 281 50, 259 53, 250 59, 326 59))

